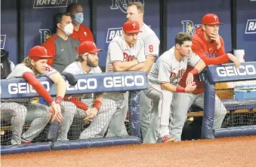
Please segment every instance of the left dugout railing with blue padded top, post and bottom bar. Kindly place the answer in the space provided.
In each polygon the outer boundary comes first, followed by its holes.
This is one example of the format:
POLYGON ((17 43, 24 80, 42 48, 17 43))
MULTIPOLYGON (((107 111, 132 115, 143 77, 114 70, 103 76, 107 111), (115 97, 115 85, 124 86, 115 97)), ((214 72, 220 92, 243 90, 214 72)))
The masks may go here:
MULTIPOLYGON (((65 77, 63 78, 66 80, 65 77)), ((73 87, 68 84, 66 95, 129 92, 128 123, 126 125, 128 136, 115 138, 88 138, 86 140, 69 141, 50 140, 46 142, 35 142, 32 144, 1 145, 1 154, 38 152, 44 150, 66 150, 84 147, 113 146, 119 144, 140 144, 139 99, 140 90, 147 89, 147 73, 143 71, 136 71, 79 74, 76 75, 76 79, 78 80, 76 86, 73 87)), ((56 96, 56 85, 53 84, 48 77, 39 77, 39 81, 48 90, 51 96, 56 96)), ((5 101, 6 99, 27 99, 39 97, 39 94, 36 93, 24 79, 1 80, 0 94, 2 101, 5 101)), ((29 124, 23 126, 23 128, 26 129, 28 127, 29 124)), ((49 134, 56 134, 56 129, 58 129, 57 127, 57 123, 48 123, 48 129, 45 131, 49 134)), ((8 126, 2 124, 2 135, 5 135, 5 131, 8 130, 11 130, 10 124, 8 124, 8 126)), ((11 134, 8 135, 10 138, 11 134)))

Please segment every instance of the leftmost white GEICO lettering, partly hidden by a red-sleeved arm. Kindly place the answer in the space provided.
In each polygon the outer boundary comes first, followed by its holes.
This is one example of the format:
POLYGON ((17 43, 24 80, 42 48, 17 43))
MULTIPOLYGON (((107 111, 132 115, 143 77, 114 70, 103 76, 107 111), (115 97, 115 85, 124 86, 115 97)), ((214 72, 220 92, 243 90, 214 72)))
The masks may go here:
MULTIPOLYGON (((48 81, 42 81, 41 84, 47 91, 50 91, 50 84, 48 81)), ((10 83, 8 84, 8 92, 11 95, 18 93, 36 93, 29 83, 10 83)))

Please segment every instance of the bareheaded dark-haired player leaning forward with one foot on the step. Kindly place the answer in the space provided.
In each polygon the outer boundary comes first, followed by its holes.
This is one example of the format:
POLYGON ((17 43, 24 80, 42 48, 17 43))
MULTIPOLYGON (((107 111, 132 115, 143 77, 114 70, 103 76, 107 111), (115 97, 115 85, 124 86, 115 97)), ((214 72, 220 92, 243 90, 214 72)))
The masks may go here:
POLYGON ((175 46, 159 56, 151 68, 148 76, 149 88, 145 94, 153 100, 154 115, 150 118, 150 128, 147 131, 150 135, 146 134, 143 143, 156 143, 156 138, 161 142, 175 141, 169 129, 173 94, 193 92, 196 89, 195 83, 191 82, 193 75, 205 68, 205 62, 192 52, 191 47, 192 37, 185 32, 179 32, 175 37, 175 46), (176 87, 187 65, 195 67, 187 77, 187 87, 176 87))

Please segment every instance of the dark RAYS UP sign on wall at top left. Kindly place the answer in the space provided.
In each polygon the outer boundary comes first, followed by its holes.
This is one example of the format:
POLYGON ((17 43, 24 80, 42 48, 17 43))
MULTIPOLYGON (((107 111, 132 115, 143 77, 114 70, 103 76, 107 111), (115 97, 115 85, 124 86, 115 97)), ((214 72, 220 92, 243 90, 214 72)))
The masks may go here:
POLYGON ((63 8, 77 0, 34 0, 33 8, 63 8))

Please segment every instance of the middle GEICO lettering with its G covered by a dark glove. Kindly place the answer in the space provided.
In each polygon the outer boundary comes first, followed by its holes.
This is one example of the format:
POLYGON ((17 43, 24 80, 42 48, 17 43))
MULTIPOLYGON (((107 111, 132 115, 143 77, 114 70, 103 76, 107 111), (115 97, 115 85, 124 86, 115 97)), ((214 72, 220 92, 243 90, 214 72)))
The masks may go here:
POLYGON ((97 80, 95 78, 79 79, 76 83, 76 86, 70 86, 66 90, 94 90, 97 88, 97 80))

